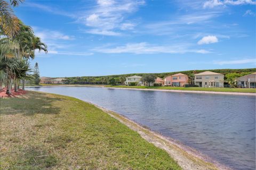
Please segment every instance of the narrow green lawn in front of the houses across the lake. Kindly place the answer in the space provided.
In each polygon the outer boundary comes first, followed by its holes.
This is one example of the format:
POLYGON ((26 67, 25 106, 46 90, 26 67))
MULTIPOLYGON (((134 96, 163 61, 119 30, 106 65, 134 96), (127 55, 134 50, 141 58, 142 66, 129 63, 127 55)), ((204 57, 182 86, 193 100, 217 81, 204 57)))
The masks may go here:
POLYGON ((148 86, 106 86, 114 88, 136 88, 136 89, 165 89, 165 90, 195 90, 195 91, 223 91, 223 92, 256 92, 256 89, 242 88, 202 88, 202 87, 148 87, 148 86))

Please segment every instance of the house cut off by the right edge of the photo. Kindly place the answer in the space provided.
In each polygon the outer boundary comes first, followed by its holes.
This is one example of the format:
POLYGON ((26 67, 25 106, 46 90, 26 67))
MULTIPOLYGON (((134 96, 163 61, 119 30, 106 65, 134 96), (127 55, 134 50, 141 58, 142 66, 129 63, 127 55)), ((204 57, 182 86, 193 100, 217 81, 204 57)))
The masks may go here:
POLYGON ((237 86, 242 88, 256 88, 256 72, 237 78, 237 86))

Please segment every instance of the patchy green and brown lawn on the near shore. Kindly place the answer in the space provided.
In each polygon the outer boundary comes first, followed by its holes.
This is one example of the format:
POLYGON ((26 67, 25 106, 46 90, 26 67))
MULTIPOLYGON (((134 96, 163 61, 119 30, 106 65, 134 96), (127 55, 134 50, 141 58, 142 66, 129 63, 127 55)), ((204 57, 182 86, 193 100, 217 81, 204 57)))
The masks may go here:
POLYGON ((1 99, 1 169, 181 169, 84 101, 42 92, 1 99))

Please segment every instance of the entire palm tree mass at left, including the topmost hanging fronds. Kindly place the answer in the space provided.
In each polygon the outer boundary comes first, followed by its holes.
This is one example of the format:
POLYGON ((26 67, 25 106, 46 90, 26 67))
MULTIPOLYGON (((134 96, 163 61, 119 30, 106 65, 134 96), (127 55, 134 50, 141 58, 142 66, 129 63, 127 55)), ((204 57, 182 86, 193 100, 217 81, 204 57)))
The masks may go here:
POLYGON ((35 78, 30 67, 35 50, 47 53, 47 46, 34 35, 33 29, 13 12, 13 7, 22 2, 0 0, 0 86, 1 89, 6 87, 6 94, 11 94, 13 85, 14 91, 17 91, 21 82, 24 90, 25 80, 35 78))

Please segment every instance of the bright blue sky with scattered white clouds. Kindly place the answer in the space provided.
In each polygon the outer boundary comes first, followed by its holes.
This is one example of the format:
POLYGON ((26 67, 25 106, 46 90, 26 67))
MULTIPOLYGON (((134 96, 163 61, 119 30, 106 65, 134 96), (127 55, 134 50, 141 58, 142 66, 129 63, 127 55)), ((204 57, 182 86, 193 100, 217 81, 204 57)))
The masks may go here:
POLYGON ((15 14, 47 44, 41 76, 256 67, 252 0, 29 1, 15 14))

